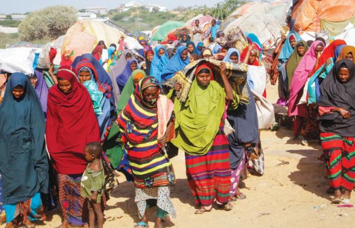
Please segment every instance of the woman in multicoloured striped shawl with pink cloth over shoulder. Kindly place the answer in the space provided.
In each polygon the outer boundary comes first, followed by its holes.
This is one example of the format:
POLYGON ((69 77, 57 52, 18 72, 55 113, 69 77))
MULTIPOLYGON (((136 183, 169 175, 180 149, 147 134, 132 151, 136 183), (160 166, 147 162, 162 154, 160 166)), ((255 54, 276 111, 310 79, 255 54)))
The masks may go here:
POLYGON ((162 227, 162 218, 175 209, 170 199, 174 171, 165 144, 174 130, 173 103, 159 95, 158 80, 142 79, 118 117, 135 185, 135 202, 141 221, 135 228, 148 227, 146 208, 157 206, 154 227, 162 227))

